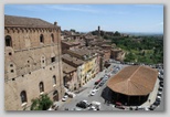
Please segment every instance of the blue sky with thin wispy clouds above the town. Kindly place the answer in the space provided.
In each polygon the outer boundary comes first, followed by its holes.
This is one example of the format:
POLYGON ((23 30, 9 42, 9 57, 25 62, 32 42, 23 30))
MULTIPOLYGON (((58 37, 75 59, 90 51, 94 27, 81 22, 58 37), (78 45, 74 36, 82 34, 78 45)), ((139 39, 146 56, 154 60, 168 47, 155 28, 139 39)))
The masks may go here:
POLYGON ((163 4, 6 4, 4 14, 55 21, 62 30, 163 33, 163 4))

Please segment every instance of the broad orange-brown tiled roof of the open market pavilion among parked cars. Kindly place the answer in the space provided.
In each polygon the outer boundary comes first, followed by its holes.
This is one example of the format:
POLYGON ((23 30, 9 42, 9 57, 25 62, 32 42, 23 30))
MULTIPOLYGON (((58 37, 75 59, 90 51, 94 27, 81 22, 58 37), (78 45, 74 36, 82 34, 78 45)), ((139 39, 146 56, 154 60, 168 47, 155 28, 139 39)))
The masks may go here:
POLYGON ((158 72, 147 66, 127 66, 107 82, 114 92, 137 96, 152 92, 158 72))

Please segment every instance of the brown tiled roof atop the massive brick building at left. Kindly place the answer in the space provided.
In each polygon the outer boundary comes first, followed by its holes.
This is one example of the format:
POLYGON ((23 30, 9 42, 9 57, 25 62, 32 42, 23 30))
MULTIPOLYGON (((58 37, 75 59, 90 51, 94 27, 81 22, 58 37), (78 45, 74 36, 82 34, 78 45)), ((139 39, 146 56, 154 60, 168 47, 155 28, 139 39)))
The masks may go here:
POLYGON ((4 15, 4 25, 26 28, 55 28, 56 25, 36 18, 4 15))

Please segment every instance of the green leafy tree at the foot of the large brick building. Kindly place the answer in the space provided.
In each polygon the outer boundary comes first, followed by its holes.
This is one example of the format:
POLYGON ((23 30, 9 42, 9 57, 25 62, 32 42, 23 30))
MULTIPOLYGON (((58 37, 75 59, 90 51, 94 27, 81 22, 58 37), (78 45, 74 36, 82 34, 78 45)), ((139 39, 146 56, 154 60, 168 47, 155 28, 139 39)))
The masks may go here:
POLYGON ((31 110, 47 110, 53 104, 47 94, 41 95, 39 98, 34 98, 31 102, 31 110))

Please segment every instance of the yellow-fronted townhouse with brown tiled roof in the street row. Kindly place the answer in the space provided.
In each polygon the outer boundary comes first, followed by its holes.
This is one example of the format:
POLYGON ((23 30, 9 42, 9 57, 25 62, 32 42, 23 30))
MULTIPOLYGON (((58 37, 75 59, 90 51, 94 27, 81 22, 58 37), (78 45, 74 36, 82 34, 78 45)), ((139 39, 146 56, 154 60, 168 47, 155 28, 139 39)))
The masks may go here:
POLYGON ((97 53, 84 47, 84 49, 77 49, 77 50, 67 50, 66 52, 71 56, 74 56, 78 60, 84 61, 83 70, 82 70, 82 82, 81 86, 85 85, 88 81, 95 77, 95 75, 98 73, 98 56, 97 53), (96 67, 97 66, 97 67, 96 67))

